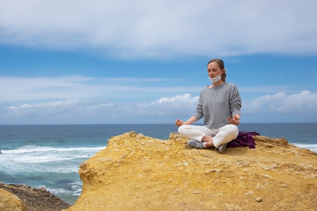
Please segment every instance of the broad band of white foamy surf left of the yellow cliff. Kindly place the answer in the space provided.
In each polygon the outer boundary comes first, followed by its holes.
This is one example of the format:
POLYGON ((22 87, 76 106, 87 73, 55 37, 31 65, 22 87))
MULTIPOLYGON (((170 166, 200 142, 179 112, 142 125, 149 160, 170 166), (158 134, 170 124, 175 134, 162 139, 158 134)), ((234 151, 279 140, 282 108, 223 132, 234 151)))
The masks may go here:
POLYGON ((38 147, 24 146, 14 150, 2 150, 0 170, 7 174, 19 172, 74 173, 81 162, 104 147, 38 147))

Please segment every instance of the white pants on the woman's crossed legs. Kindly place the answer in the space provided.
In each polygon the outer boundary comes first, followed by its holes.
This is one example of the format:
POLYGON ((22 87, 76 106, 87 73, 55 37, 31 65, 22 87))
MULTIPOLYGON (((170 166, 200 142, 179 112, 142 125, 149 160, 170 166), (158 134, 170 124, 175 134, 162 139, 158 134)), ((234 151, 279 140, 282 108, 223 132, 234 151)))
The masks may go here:
POLYGON ((237 126, 234 124, 226 124, 217 130, 212 130, 206 126, 199 125, 181 125, 178 128, 178 133, 183 138, 192 139, 202 142, 202 138, 206 135, 213 137, 213 142, 216 148, 221 144, 228 143, 239 134, 237 126))

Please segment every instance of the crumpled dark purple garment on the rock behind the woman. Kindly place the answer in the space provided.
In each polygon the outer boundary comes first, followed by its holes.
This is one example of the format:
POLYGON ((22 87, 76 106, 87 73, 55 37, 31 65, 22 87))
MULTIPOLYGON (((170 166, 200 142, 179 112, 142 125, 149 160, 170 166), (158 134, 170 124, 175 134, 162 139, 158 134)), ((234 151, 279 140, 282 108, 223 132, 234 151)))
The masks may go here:
POLYGON ((227 143, 227 147, 249 147, 255 149, 255 141, 252 136, 260 136, 257 132, 245 132, 239 131, 239 135, 236 139, 227 143))

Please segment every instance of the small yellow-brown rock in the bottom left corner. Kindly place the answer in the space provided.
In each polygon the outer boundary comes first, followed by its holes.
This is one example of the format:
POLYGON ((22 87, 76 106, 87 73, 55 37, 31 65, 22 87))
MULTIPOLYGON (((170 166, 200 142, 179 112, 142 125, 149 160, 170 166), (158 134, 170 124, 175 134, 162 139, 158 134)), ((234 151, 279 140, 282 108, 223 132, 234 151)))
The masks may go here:
POLYGON ((26 206, 18 196, 0 188, 0 211, 26 211, 26 206))

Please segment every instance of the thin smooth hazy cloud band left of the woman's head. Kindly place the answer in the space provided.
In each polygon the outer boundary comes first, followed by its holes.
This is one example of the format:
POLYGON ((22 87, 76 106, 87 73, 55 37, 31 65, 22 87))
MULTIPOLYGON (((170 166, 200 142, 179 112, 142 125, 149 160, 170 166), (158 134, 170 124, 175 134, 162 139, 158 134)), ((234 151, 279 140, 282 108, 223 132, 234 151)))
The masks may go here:
MULTIPOLYGON (((199 91, 200 87, 161 87, 161 82, 182 81, 173 78, 135 77, 1 77, 0 102, 48 99, 93 99, 131 97, 131 93, 173 93, 199 91), (119 82, 119 83, 118 83, 119 82), (124 82, 124 85, 120 83, 124 82), (157 87, 155 83, 157 82, 157 87)), ((134 95, 135 96, 135 95, 134 95)))

